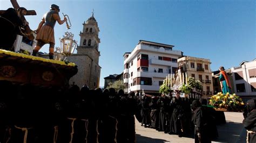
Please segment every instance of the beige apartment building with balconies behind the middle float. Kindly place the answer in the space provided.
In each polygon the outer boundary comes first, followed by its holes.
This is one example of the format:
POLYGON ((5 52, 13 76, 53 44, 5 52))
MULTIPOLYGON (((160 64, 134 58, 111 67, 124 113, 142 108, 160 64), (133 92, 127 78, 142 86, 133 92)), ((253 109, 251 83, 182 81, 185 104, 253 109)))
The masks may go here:
POLYGON ((178 65, 183 67, 188 77, 194 77, 203 83, 203 98, 213 95, 212 71, 209 59, 183 56, 178 59, 178 65))

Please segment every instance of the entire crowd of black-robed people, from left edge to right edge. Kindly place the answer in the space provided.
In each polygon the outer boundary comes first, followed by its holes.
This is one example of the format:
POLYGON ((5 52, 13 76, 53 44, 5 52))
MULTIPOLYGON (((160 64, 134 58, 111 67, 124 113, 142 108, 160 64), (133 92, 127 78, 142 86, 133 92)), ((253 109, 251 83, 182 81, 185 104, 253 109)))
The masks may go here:
MULTIPOLYGON (((10 81, 0 81, 0 90, 0 142, 136 142, 135 118, 179 137, 194 132, 195 142, 218 137, 215 110, 204 99, 10 81)), ((255 128, 255 101, 251 104, 244 114, 248 130, 255 128)))

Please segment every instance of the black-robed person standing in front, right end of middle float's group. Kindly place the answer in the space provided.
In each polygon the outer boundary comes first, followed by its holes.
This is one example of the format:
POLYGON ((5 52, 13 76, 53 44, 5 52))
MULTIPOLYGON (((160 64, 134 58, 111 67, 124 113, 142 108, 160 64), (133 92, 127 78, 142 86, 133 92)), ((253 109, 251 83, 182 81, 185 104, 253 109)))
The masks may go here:
POLYGON ((210 128, 207 124, 207 112, 201 108, 201 103, 198 99, 192 102, 192 110, 194 111, 192 121, 194 123, 194 142, 211 142, 209 135, 210 128))

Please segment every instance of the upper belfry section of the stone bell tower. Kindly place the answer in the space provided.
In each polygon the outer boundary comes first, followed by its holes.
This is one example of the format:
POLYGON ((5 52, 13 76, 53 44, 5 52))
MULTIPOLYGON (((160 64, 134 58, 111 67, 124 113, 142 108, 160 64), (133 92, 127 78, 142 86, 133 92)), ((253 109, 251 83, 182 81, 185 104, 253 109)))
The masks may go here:
POLYGON ((93 61, 99 63, 99 27, 96 19, 92 16, 83 23, 83 32, 80 31, 80 44, 77 46, 77 54, 86 54, 93 61))

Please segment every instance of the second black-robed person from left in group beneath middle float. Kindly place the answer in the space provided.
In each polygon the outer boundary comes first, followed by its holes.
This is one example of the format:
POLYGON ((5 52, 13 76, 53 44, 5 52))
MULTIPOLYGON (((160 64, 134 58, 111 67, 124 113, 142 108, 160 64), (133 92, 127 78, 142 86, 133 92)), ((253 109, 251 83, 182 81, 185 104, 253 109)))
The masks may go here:
POLYGON ((155 129, 158 128, 158 124, 159 124, 159 106, 157 105, 157 101, 158 101, 158 97, 153 96, 152 100, 151 100, 151 103, 150 103, 151 125, 152 125, 152 128, 155 128, 155 129))

